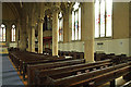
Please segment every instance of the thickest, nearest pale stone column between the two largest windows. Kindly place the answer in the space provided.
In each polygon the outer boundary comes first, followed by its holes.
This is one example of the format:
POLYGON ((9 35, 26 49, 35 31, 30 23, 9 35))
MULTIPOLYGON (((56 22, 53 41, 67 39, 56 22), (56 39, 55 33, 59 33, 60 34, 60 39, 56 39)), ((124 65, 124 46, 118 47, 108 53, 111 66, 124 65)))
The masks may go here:
POLYGON ((84 59, 94 61, 94 2, 82 5, 82 40, 84 41, 84 59))

